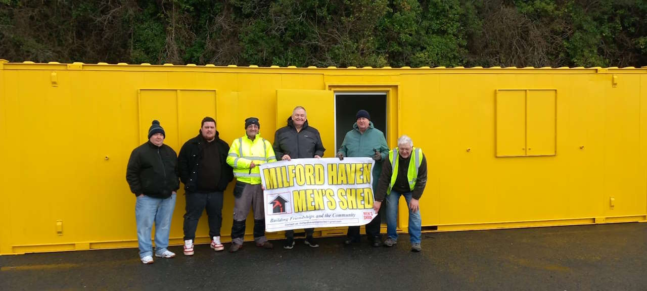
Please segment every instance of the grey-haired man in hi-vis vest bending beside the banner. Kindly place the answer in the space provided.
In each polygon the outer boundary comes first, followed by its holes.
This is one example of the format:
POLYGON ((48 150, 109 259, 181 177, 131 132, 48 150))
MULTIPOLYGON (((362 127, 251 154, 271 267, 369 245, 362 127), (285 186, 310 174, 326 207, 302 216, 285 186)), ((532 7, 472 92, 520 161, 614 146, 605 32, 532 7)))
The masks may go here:
POLYGON ((427 184, 427 160, 419 147, 413 147, 413 140, 403 135, 398 138, 398 147, 389 151, 389 159, 382 164, 382 174, 375 191, 373 209, 380 210, 386 195, 386 233, 385 246, 393 246, 398 239, 397 227, 398 202, 404 196, 409 207, 409 239, 411 251, 420 252, 421 224, 419 202, 427 184))

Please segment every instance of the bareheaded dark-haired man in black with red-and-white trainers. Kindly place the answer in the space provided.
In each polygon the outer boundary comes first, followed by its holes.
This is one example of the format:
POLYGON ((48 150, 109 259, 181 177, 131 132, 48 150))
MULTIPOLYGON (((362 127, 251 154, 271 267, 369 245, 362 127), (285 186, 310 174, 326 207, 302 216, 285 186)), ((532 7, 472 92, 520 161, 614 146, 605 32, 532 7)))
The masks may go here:
POLYGON ((223 191, 234 178, 227 164, 229 146, 219 138, 215 120, 205 117, 199 135, 188 140, 180 149, 178 158, 180 179, 186 190, 184 214, 184 255, 193 255, 193 241, 198 221, 206 208, 209 219, 211 248, 225 249, 220 242, 223 224, 223 191))

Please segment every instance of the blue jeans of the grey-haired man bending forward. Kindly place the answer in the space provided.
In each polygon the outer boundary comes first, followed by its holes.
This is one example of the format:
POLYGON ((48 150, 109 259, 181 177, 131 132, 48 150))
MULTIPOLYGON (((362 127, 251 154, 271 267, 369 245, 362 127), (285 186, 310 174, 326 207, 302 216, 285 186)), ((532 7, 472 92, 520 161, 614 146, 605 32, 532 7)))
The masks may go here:
POLYGON ((386 195, 386 233, 391 239, 397 241, 398 233, 395 229, 397 228, 398 202, 400 201, 400 195, 404 196, 406 206, 409 209, 409 239, 412 244, 420 243, 422 219, 420 217, 420 208, 415 212, 411 212, 411 208, 409 208, 411 203, 411 192, 400 194, 396 191, 391 191, 391 194, 386 195))

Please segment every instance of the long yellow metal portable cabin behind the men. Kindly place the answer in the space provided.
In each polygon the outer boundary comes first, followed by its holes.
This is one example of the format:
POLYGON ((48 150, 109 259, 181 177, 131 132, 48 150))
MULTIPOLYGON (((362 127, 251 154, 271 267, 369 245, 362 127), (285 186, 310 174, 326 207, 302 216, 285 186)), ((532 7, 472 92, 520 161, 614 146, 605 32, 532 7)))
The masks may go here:
MULTIPOLYGON (((307 109, 333 157, 358 109, 428 160, 423 230, 647 220, 647 67, 297 68, 0 60, 0 253, 136 247, 131 151, 160 120, 179 151, 213 116, 272 141, 307 109)), ((225 193, 223 239, 232 224, 225 193)), ((183 191, 171 244, 182 242, 183 191)), ((400 203, 400 230, 406 230, 400 203)), ((251 219, 248 222, 251 223, 251 219)), ((248 226, 248 237, 252 227, 248 226)), ((317 235, 345 233, 317 229, 317 235)), ((279 238, 282 233, 270 233, 279 238)), ((197 242, 208 242, 206 218, 197 242)))

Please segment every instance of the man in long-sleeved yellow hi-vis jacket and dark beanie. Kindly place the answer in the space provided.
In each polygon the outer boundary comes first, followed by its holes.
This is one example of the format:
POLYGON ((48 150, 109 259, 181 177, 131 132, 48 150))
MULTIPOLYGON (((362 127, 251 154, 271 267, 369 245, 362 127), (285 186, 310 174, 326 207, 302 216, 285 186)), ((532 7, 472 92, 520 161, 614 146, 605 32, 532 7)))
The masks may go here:
POLYGON ((232 142, 227 155, 227 164, 234 168, 234 224, 232 225, 232 246, 229 252, 237 252, 245 241, 245 219, 250 208, 254 208, 254 242, 262 248, 273 248, 265 237, 265 204, 261 188, 261 173, 258 165, 276 162, 274 149, 258 131, 258 118, 245 120, 245 136, 232 142))

